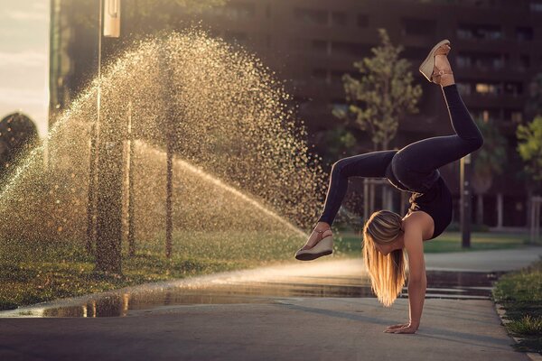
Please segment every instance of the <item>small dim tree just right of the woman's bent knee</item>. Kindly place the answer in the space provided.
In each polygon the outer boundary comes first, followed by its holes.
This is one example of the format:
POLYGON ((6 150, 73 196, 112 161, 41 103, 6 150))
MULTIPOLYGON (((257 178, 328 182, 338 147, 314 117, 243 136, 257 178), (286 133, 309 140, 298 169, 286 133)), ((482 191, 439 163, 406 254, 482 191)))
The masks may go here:
POLYGON ((476 222, 483 223, 483 195, 490 190, 493 183, 493 176, 501 174, 503 164, 507 160, 507 141, 500 133, 499 127, 491 122, 476 120, 484 143, 477 151, 474 158, 472 188, 477 194, 478 206, 476 211, 476 222))

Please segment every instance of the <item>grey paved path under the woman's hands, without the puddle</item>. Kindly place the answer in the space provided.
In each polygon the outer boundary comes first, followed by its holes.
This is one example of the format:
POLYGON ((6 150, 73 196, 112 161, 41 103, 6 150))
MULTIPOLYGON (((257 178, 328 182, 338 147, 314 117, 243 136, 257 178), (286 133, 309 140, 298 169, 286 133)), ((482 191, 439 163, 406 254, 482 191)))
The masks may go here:
MULTIPOLYGON (((426 255, 428 268, 506 271, 542 247, 426 255)), ((280 274, 360 273, 360 260, 333 260, 220 273, 154 287, 280 274)), ((134 289, 132 289, 134 291, 134 289)), ((131 310, 123 318, 0 319, 0 360, 528 360, 512 350, 489 300, 425 300, 416 335, 383 333, 405 321, 408 301, 268 297, 264 303, 193 304, 131 310)))

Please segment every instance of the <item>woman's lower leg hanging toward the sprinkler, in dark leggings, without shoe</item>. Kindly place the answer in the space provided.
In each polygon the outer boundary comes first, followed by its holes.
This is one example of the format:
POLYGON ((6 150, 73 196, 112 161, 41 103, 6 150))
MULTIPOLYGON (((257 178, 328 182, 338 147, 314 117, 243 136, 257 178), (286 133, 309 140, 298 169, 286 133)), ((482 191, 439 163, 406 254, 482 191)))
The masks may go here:
POLYGON ((386 177, 386 168, 396 153, 397 150, 364 153, 342 158, 333 163, 322 215, 318 222, 332 225, 333 219, 341 208, 350 177, 386 177))

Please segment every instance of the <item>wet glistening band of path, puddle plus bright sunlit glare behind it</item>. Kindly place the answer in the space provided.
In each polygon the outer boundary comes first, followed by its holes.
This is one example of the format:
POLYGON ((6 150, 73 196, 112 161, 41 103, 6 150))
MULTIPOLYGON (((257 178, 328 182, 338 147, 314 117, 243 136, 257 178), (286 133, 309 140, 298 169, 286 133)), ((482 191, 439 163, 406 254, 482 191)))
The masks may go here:
MULTIPOLYGON (((431 258, 431 255, 429 255, 431 258)), ((489 300, 504 272, 427 270, 427 299, 489 300)), ((125 317, 196 304, 276 303, 285 298, 374 298, 360 259, 320 259, 146 284, 0 312, 0 317, 125 317)), ((400 297, 407 297, 406 287, 400 297)))

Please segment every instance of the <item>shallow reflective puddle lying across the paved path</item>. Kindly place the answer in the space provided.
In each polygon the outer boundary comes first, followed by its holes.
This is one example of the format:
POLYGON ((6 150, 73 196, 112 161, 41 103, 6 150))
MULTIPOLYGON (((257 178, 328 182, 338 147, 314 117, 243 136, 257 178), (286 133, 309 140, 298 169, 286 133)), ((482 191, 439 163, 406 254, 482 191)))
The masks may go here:
MULTIPOLYGON (((492 282, 502 273, 427 271, 426 298, 490 299, 492 282)), ((406 297, 406 288, 402 297, 406 297)), ((0 317, 125 317, 164 306, 276 303, 286 297, 375 297, 369 279, 361 276, 282 276, 276 279, 227 278, 167 288, 135 287, 86 300, 0 312, 0 317)))

